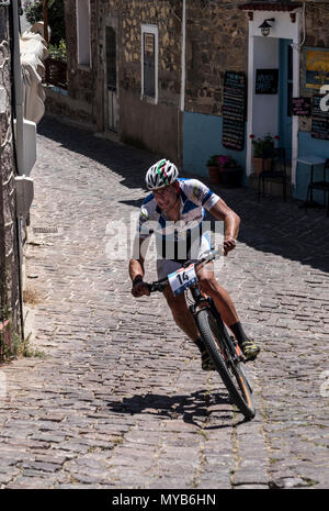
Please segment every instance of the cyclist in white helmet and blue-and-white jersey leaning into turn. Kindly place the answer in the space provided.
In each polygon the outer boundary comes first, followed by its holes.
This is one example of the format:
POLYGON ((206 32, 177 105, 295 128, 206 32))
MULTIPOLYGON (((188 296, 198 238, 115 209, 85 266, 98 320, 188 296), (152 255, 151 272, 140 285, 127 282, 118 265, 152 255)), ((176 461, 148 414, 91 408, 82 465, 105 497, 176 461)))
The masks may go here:
MULTIPOLYGON (((140 208, 134 254, 129 262, 132 293, 136 298, 149 295, 143 280, 146 252, 144 243, 152 233, 156 234, 157 241, 159 279, 175 271, 186 259, 198 259, 203 253, 212 248, 207 233, 204 234, 201 229, 205 215, 204 209, 216 220, 224 221, 224 254, 227 255, 236 247, 239 216, 200 180, 181 179, 178 176, 175 165, 168 159, 157 162, 146 174, 146 186, 151 193, 144 200, 140 208), (182 246, 185 249, 183 257, 180 254, 182 246)), ((203 267, 197 274, 201 289, 213 298, 223 321, 235 335, 246 359, 254 359, 260 348, 252 338, 246 335, 231 298, 217 282, 213 268, 209 266, 203 267)), ((188 308, 184 293, 174 296, 168 285, 163 295, 177 325, 198 347, 202 355, 202 368, 214 369, 188 308)))

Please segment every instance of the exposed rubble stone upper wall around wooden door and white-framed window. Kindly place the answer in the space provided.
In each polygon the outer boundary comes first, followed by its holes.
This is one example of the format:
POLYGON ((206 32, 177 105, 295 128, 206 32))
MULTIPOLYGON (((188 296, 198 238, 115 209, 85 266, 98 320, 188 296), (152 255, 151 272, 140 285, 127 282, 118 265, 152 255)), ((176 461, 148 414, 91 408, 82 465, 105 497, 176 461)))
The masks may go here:
POLYGON ((106 14, 118 19, 120 84, 129 92, 140 95, 141 89, 141 24, 156 24, 159 29, 159 102, 179 104, 181 84, 181 15, 182 1, 101 0, 101 22, 106 14))

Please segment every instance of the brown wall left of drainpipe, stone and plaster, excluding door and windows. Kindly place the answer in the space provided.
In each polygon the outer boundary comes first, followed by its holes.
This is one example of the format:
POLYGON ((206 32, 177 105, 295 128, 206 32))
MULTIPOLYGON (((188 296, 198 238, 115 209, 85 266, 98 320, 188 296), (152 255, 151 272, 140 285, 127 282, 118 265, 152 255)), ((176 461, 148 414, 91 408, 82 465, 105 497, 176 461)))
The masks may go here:
MULTIPOLYGON (((182 0, 91 0, 91 58, 92 69, 77 65, 77 13, 76 0, 65 0, 67 49, 68 49, 68 96, 56 97, 48 93, 47 111, 57 115, 70 116, 95 125, 102 132, 106 127, 106 44, 105 26, 112 26, 117 43, 117 99, 118 133, 121 140, 135 141, 137 145, 156 151, 150 145, 156 123, 160 125, 162 148, 170 145, 171 157, 179 156, 181 121, 179 115, 181 93, 181 38, 182 0), (141 24, 156 24, 159 31, 158 105, 161 115, 158 119, 157 105, 148 99, 141 99, 141 24), (128 100, 127 100, 128 98, 128 100), (134 119, 131 108, 136 109, 134 119), (140 119, 149 116, 143 123, 138 140, 140 119), (174 136, 172 127, 174 126, 174 136), (166 133, 171 130, 169 137, 166 133), (164 136, 162 136, 164 134, 164 136), (172 144, 175 138, 175 144, 172 144)), ((156 145, 159 148, 159 143, 156 145)))

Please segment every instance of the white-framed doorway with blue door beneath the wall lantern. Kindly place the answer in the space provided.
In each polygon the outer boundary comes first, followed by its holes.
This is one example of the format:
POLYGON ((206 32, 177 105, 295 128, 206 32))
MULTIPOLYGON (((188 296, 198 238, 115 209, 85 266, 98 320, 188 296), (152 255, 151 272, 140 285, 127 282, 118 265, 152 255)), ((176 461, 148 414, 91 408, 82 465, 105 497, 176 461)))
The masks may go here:
MULTIPOLYGON (((253 11, 249 18, 248 49, 248 120, 247 120, 247 176, 253 171, 253 147, 250 134, 264 136, 277 134, 280 146, 285 147, 287 164, 291 163, 291 184, 296 184, 298 156, 298 118, 291 115, 291 98, 299 95, 299 41, 300 9, 281 11, 273 3, 273 11, 253 11), (264 16, 273 15, 275 22, 269 36, 261 35, 264 16), (293 44, 293 48, 291 46, 293 44), (258 69, 279 69, 277 93, 263 97, 254 93, 258 69)), ((290 167, 290 165, 287 165, 290 167)), ((288 170, 288 168, 287 168, 288 170)))

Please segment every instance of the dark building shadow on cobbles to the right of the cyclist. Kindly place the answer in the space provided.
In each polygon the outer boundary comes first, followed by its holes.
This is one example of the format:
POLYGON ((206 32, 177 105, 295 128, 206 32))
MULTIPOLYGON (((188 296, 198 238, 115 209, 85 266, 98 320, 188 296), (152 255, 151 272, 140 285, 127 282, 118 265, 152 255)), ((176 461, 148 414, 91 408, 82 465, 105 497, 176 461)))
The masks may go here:
POLYGON ((241 218, 239 242, 329 271, 329 218, 324 209, 306 215, 297 200, 265 198, 258 203, 249 189, 220 190, 220 195, 241 218))

